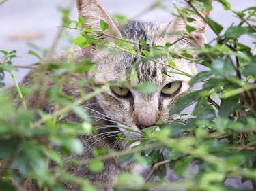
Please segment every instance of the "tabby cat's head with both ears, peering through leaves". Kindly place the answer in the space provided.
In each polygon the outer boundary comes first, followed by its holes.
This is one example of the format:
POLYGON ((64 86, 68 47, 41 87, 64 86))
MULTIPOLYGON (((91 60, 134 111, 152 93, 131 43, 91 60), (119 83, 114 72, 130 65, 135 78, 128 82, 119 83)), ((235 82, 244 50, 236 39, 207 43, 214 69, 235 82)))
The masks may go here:
MULTIPOLYGON (((170 35, 168 32, 186 31, 183 18, 175 18, 171 24, 130 22, 122 29, 118 29, 117 24, 113 22, 97 0, 81 0, 77 1, 77 5, 79 14, 85 18, 85 27, 93 27, 94 31, 100 31, 100 20, 109 24, 109 29, 105 31, 106 35, 98 35, 97 37, 110 43, 115 38, 126 38, 134 42, 143 39, 147 41, 149 46, 165 46, 167 42, 172 43, 181 37, 177 33, 170 35)), ((208 13, 203 12, 202 14, 205 16, 208 13)), ((189 46, 193 49, 195 44, 203 46, 205 43, 205 22, 200 16, 191 15, 191 18, 195 19, 190 25, 197 29, 193 32, 197 42, 195 43, 191 39, 182 39, 171 46, 177 52, 179 48, 189 46)), ((137 49, 137 53, 140 55, 143 55, 140 50, 146 49, 139 44, 132 44, 132 46, 137 49)), ((190 54, 196 56, 193 50, 190 54)), ((140 56, 111 48, 93 48, 91 55, 92 60, 96 61, 97 72, 91 73, 90 77, 94 77, 98 84, 128 81, 135 85, 151 82, 158 87, 158 90, 152 94, 143 94, 132 86, 113 87, 96 97, 104 113, 115 120, 122 132, 128 137, 137 137, 137 133, 128 131, 126 128, 140 131, 143 128, 154 126, 158 120, 168 118, 169 109, 175 103, 175 99, 182 97, 190 89, 188 85, 190 77, 173 73, 172 71, 175 69, 168 67, 167 59, 173 60, 177 69, 189 75, 197 73, 195 63, 191 60, 175 59, 171 56, 157 58, 158 63, 153 61, 140 62, 140 56), (163 71, 167 71, 168 75, 165 75, 163 71), (131 77, 128 75, 130 73, 137 73, 137 76, 131 77), (126 128, 122 128, 122 126, 126 126, 126 128)))

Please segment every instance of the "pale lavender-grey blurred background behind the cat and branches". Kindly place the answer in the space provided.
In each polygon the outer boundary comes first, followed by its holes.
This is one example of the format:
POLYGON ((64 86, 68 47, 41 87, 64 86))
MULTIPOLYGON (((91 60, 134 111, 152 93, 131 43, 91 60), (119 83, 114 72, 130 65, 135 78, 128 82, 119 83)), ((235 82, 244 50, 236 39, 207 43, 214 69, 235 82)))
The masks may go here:
MULTIPOLYGON (((145 20, 152 22, 170 22, 173 19, 171 13, 173 2, 170 0, 99 0, 109 14, 121 14, 134 20, 145 20), (156 2, 161 2, 162 7, 154 6, 156 2)), ((233 10, 244 10, 246 7, 256 5, 253 0, 230 0, 233 10)), ((177 4, 183 7, 182 0, 177 0, 177 4)), ((38 62, 38 58, 27 54, 29 50, 37 52, 43 56, 43 50, 55 46, 56 35, 59 31, 57 26, 61 25, 60 11, 71 7, 70 18, 77 19, 75 0, 0 0, 0 50, 17 50, 19 58, 15 58, 14 65, 31 65, 38 62)), ((224 28, 238 22, 231 12, 225 12, 220 3, 214 2, 210 17, 217 20, 224 28)), ((61 40, 56 46, 55 52, 67 50, 70 46, 69 41, 76 36, 76 31, 68 30, 63 33, 66 40, 61 40)), ((208 41, 214 39, 215 35, 207 29, 206 36, 208 41)), ((242 39, 245 44, 252 46, 249 37, 242 39)), ((1 55, 0 55, 1 56, 1 55)), ((199 70, 203 69, 199 67, 199 70)), ((28 69, 19 69, 16 72, 18 82, 28 72, 28 69)), ((5 84, 12 86, 9 74, 5 76, 5 84)))

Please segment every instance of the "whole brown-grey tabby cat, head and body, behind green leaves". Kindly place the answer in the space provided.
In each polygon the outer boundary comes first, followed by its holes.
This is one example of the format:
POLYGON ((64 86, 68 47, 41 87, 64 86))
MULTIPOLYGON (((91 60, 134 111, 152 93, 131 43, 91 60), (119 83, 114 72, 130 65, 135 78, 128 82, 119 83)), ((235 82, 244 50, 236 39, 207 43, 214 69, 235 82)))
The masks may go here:
MULTIPOLYGON (((168 34, 171 32, 185 32, 186 23, 183 18, 175 18, 170 24, 156 24, 152 22, 139 22, 130 21, 126 26, 120 27, 115 23, 109 14, 106 13, 102 5, 97 0, 77 0, 77 8, 79 16, 85 19, 85 28, 92 27, 94 31, 100 31, 100 20, 104 20, 109 24, 109 29, 104 31, 106 35, 97 35, 96 38, 102 41, 114 41, 115 38, 126 38, 130 41, 139 41, 143 39, 147 41, 148 46, 162 45, 165 46, 167 42, 172 43, 180 38, 177 33, 168 34), (114 38, 113 38, 114 37, 114 38)), ((186 7, 185 9, 188 9, 186 7)), ((208 12, 201 12, 203 16, 208 16, 208 12)), ((195 27, 193 31, 194 39, 182 39, 177 44, 171 46, 171 48, 193 47, 193 44, 197 46, 203 46, 205 43, 205 21, 197 15, 191 15, 195 21, 190 23, 195 27), (197 42, 195 42, 195 39, 197 42)), ((141 54, 140 50, 143 49, 141 45, 134 45, 138 54, 141 54)), ((70 83, 63 85, 63 92, 71 95, 74 99, 81 97, 80 90, 76 84, 81 79, 94 79, 94 83, 98 86, 105 82, 116 83, 122 80, 130 80, 132 84, 141 84, 143 82, 152 82, 156 84, 158 90, 152 94, 142 94, 139 90, 131 87, 115 87, 107 88, 103 93, 96 95, 96 97, 90 99, 81 104, 82 107, 87 108, 93 124, 98 130, 96 136, 81 135, 79 139, 83 143, 83 154, 73 154, 72 157, 79 159, 93 158, 91 150, 94 148, 105 147, 111 150, 122 150, 125 145, 125 141, 119 141, 116 138, 117 133, 122 133, 126 137, 139 139, 140 135, 136 132, 129 131, 133 129, 135 131, 141 131, 149 126, 154 126, 159 120, 168 118, 169 109, 175 103, 178 97, 184 96, 189 90, 190 86, 188 82, 190 77, 170 73, 164 75, 162 71, 171 71, 172 69, 167 66, 159 65, 152 61, 147 63, 139 63, 137 67, 133 67, 134 63, 140 59, 140 57, 124 52, 122 50, 115 50, 119 56, 115 56, 108 50, 108 48, 102 48, 99 46, 89 46, 87 48, 74 48, 73 61, 77 60, 93 60, 96 65, 96 73, 87 72, 81 75, 74 74, 70 76, 70 83), (128 71, 136 71, 136 79, 127 79, 126 73, 128 71), (122 128, 125 126, 126 128, 122 128)), ((195 52, 191 51, 193 56, 197 56, 195 52)), ((48 59, 46 63, 55 61, 65 61, 68 59, 68 52, 62 52, 48 59)), ((171 58, 171 56, 169 57, 171 58)), ((161 63, 168 63, 167 57, 158 58, 161 63)), ((195 63, 191 63, 186 59, 174 59, 177 69, 180 69, 190 75, 196 75, 197 68, 195 63)), ((38 93, 35 95, 27 95, 25 97, 25 103, 27 107, 40 108, 47 113, 52 113, 55 109, 54 103, 48 103, 44 90, 48 90, 54 86, 54 82, 44 79, 51 78, 52 72, 44 71, 40 72, 35 69, 27 75, 20 86, 33 86, 33 75, 41 77, 42 84, 38 87, 38 93)), ((90 86, 85 87, 85 92, 91 92, 90 86)), ((21 101, 18 101, 18 106, 21 105, 21 101)), ((61 119, 61 122, 83 122, 81 118, 73 113, 67 114, 61 119)), ((94 184, 100 184, 102 182, 109 184, 109 188, 102 188, 102 190, 112 190, 112 186, 115 184, 115 175, 119 175, 122 172, 134 171, 134 165, 132 164, 119 164, 116 158, 104 160, 104 170, 101 173, 91 173, 87 166, 70 167, 68 169, 70 173, 89 179, 94 184)), ((64 184, 66 190, 79 190, 79 186, 72 184, 64 184)), ((34 181, 27 181, 23 190, 38 190, 38 186, 34 181)))

